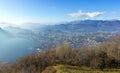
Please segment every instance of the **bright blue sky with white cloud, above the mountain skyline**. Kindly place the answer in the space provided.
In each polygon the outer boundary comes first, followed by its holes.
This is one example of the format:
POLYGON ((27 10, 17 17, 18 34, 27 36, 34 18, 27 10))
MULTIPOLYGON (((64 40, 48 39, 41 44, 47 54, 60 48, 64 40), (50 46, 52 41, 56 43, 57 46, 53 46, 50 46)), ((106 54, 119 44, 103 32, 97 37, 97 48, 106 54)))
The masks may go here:
POLYGON ((120 0, 0 0, 0 22, 22 24, 120 19, 120 0))

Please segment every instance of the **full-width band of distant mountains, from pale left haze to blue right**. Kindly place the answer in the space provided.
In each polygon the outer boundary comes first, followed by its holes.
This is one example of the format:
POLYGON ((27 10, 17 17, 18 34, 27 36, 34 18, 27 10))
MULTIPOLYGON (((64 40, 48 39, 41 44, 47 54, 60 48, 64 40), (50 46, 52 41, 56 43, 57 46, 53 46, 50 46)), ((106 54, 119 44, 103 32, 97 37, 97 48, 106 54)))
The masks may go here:
POLYGON ((17 27, 10 23, 0 23, 0 27, 10 29, 28 29, 28 30, 50 30, 50 31, 74 31, 74 32, 98 32, 98 31, 120 31, 120 20, 78 20, 62 24, 40 24, 40 23, 24 23, 17 27))

